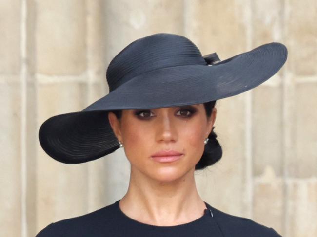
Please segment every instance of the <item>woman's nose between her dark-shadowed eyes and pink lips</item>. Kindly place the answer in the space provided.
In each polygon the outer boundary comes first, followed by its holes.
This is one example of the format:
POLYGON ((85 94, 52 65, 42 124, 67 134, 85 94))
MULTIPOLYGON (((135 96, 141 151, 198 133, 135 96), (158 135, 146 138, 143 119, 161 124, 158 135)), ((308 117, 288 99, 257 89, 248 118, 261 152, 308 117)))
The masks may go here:
POLYGON ((167 113, 161 113, 157 120, 157 141, 171 142, 177 139, 177 128, 173 118, 167 113))

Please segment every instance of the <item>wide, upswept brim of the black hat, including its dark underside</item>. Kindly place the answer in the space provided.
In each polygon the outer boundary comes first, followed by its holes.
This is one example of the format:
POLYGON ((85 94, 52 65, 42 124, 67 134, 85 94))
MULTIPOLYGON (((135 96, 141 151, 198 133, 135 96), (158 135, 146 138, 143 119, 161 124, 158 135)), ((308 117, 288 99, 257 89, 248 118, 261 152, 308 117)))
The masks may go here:
POLYGON ((286 47, 274 42, 215 65, 166 67, 140 74, 82 111, 47 119, 39 130, 40 145, 62 163, 98 159, 119 148, 109 110, 174 107, 238 95, 268 80, 286 59, 286 47))

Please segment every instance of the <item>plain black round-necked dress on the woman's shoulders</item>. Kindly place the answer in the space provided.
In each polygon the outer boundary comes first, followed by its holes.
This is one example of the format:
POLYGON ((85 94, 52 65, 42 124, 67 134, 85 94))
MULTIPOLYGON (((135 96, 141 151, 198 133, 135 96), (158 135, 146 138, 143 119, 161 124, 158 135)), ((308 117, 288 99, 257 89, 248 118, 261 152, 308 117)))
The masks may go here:
POLYGON ((83 216, 51 223, 36 237, 281 237, 273 228, 205 204, 204 215, 194 221, 155 226, 126 216, 118 200, 83 216))

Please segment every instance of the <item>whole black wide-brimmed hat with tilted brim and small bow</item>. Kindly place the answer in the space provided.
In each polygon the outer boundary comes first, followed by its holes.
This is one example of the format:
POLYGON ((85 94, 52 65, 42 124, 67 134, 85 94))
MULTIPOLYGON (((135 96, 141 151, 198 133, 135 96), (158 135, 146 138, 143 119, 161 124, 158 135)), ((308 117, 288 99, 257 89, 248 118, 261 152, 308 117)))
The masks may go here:
POLYGON ((62 163, 98 159, 119 148, 108 111, 192 105, 237 95, 277 73, 286 58, 286 47, 276 42, 220 61, 216 53, 202 56, 184 36, 139 38, 110 62, 110 92, 79 112, 48 118, 40 126, 40 145, 62 163))

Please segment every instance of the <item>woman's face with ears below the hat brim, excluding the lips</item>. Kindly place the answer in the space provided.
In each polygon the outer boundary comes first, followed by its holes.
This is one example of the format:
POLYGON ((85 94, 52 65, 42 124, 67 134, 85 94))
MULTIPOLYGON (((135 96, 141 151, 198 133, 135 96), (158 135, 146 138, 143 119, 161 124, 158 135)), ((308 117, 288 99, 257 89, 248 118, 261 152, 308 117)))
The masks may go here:
POLYGON ((120 121, 108 115, 111 127, 131 163, 133 174, 171 182, 195 170, 204 150, 204 140, 216 119, 216 108, 207 120, 203 104, 158 109, 124 109, 120 121), (161 150, 183 155, 173 162, 158 162, 151 156, 161 150))

